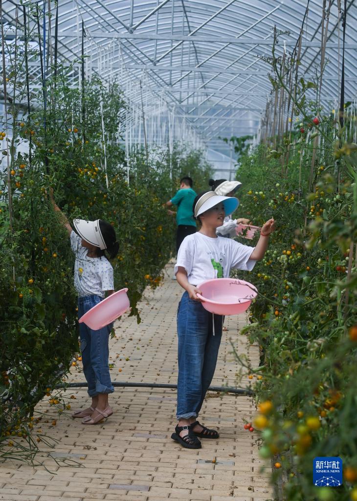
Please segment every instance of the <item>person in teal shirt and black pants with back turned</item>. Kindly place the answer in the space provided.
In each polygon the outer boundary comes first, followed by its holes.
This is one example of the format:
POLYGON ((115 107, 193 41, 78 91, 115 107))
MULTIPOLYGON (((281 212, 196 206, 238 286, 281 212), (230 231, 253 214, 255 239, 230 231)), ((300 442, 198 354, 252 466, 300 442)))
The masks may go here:
POLYGON ((196 232, 196 221, 193 219, 193 201, 196 192, 192 189, 193 181, 190 177, 185 176, 180 179, 179 190, 171 200, 166 202, 166 205, 177 205, 176 212, 176 252, 185 236, 196 232))

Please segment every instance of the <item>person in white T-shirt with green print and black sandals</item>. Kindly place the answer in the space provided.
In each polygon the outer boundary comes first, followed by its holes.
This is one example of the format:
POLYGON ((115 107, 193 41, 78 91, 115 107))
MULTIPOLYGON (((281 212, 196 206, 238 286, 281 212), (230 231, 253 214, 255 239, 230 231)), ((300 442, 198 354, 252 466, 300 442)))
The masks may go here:
POLYGON ((178 424, 171 438, 183 447, 198 449, 197 437, 218 438, 196 419, 206 391, 212 381, 222 334, 220 315, 212 315, 203 308, 197 293, 206 280, 228 278, 231 268, 252 270, 255 262, 263 258, 268 236, 274 229, 274 220, 266 221, 255 247, 249 247, 230 238, 216 235, 225 214, 231 214, 238 201, 207 191, 196 196, 194 217, 201 228, 184 238, 178 250, 174 271, 177 282, 185 290, 177 310, 178 424))

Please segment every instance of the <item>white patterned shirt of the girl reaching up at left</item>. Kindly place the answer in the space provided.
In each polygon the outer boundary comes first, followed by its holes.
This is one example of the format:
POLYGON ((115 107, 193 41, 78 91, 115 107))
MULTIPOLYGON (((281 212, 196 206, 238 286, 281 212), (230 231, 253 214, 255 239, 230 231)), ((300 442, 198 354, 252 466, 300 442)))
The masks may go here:
POLYGON ((74 231, 70 233, 70 247, 75 254, 74 287, 79 297, 95 294, 104 298, 104 291, 114 290, 113 268, 105 256, 88 258, 88 249, 82 247, 74 231))

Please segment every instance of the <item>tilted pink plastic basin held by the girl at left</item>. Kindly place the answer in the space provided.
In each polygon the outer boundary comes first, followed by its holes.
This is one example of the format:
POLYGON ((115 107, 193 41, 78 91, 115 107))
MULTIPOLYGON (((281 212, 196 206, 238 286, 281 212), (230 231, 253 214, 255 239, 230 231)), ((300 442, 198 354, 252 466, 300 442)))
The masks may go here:
POLYGON ((97 331, 111 322, 114 322, 114 320, 126 312, 130 306, 129 298, 126 293, 126 288, 114 292, 84 313, 84 315, 80 317, 79 322, 84 322, 84 324, 93 331, 97 331))

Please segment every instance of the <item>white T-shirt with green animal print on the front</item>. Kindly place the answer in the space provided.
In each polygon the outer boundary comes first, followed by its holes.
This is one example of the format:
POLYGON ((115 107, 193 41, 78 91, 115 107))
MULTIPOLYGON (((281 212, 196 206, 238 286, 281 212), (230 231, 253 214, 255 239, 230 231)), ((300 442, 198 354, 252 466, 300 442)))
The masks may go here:
POLYGON ((254 247, 230 238, 211 238, 198 231, 186 236, 177 254, 174 273, 181 266, 189 284, 197 286, 206 280, 229 278, 231 268, 251 271, 256 261, 249 259, 254 247))

